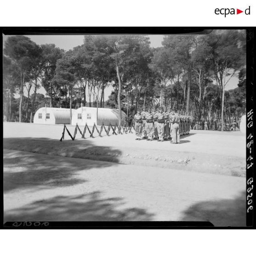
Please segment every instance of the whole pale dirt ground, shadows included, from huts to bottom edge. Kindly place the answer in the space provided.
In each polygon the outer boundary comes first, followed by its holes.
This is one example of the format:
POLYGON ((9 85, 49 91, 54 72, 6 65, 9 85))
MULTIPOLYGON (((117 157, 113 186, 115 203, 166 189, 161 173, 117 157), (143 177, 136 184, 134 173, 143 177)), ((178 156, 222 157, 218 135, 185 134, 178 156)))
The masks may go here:
POLYGON ((134 134, 60 142, 62 131, 4 123, 5 221, 245 225, 245 134, 192 130, 172 145, 134 134))

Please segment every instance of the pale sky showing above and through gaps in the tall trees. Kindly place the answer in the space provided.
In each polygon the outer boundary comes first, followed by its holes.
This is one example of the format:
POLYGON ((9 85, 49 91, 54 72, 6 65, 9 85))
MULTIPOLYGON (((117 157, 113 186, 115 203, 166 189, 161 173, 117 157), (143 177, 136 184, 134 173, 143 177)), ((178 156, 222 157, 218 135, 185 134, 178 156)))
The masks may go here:
MULTIPOLYGON (((38 45, 44 44, 55 44, 57 47, 60 47, 64 50, 73 49, 73 47, 83 44, 83 35, 27 35, 31 40, 33 40, 38 45)), ((3 34, 3 44, 6 41, 8 36, 3 34)), ((164 35, 149 35, 150 45, 151 47, 161 47, 161 42, 164 35)), ((234 89, 237 87, 238 78, 231 78, 227 84, 226 90, 234 89)), ((105 99, 108 99, 108 96, 111 94, 111 87, 105 89, 105 99)), ((24 94, 26 94, 26 89, 24 90, 24 94)), ((42 93, 45 95, 45 89, 41 87, 38 90, 38 93, 42 93)), ((88 96, 88 95, 87 95, 88 96)), ((17 95, 17 98, 19 95, 17 95)))

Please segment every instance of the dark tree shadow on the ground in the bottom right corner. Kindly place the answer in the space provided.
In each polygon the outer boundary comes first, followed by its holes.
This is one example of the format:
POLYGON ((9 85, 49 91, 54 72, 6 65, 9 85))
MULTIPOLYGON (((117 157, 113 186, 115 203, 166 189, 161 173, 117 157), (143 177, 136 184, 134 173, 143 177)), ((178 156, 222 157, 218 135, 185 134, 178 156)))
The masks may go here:
POLYGON ((246 226, 245 191, 234 199, 196 203, 184 211, 182 221, 210 221, 214 226, 246 226))

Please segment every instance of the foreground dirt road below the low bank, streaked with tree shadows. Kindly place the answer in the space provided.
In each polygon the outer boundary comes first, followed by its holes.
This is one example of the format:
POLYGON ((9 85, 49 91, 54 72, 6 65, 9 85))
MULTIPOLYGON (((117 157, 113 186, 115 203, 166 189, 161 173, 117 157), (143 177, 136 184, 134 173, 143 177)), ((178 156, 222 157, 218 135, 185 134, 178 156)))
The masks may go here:
POLYGON ((245 178, 4 150, 5 221, 245 225, 245 178))

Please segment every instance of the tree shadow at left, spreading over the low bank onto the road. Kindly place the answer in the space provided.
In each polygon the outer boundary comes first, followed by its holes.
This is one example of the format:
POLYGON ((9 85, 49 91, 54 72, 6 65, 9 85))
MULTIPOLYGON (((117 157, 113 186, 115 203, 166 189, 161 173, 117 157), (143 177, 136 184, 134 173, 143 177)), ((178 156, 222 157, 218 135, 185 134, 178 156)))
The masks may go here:
POLYGON ((83 141, 83 149, 79 148, 79 143, 74 144, 73 147, 69 144, 61 144, 63 148, 60 147, 60 144, 61 142, 54 139, 41 141, 39 139, 29 140, 28 138, 5 139, 7 149, 22 151, 4 150, 4 191, 35 186, 49 189, 50 187, 81 184, 86 180, 76 177, 79 171, 115 165, 115 162, 118 162, 117 156, 121 154, 120 150, 111 147, 94 146, 91 141, 83 141), (40 142, 44 145, 40 145, 40 142), (77 155, 76 150, 78 151, 77 155), (60 157, 62 154, 73 157, 60 157), (99 156, 97 154, 108 154, 111 161, 75 158, 83 158, 87 154, 95 159, 99 156))

